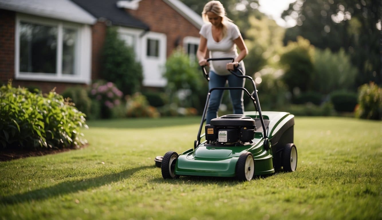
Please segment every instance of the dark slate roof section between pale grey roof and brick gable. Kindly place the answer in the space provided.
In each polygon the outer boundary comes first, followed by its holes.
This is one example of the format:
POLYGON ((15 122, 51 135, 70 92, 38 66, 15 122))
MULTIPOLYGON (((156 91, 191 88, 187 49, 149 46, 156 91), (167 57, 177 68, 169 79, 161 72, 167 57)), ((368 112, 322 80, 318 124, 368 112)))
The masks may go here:
POLYGON ((113 25, 149 30, 149 26, 134 18, 123 8, 117 7, 118 0, 71 0, 96 18, 105 18, 113 25))

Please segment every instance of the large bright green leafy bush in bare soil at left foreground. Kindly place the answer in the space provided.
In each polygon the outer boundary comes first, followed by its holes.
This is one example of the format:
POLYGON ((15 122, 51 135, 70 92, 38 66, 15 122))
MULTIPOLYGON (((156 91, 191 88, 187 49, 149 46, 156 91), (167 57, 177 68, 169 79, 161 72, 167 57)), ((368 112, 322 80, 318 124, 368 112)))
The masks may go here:
POLYGON ((14 88, 0 89, 0 144, 2 148, 62 148, 86 144, 80 128, 85 114, 54 91, 34 94, 14 88))

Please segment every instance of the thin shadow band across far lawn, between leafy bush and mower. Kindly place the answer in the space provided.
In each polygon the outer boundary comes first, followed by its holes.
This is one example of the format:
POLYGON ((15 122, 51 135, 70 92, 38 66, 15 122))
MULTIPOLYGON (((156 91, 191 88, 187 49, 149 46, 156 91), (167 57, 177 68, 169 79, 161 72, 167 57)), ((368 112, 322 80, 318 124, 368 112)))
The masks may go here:
POLYGON ((89 128, 161 128, 179 125, 195 125, 199 128, 201 116, 163 118, 125 118, 110 120, 90 120, 89 128))

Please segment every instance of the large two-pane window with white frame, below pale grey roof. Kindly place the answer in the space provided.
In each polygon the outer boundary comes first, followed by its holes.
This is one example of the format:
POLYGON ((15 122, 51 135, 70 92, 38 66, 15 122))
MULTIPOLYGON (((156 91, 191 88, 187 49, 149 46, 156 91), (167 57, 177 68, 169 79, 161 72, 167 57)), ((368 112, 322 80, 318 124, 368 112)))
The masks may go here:
POLYGON ((16 78, 90 81, 91 34, 90 28, 86 31, 84 26, 19 16, 16 29, 16 78))

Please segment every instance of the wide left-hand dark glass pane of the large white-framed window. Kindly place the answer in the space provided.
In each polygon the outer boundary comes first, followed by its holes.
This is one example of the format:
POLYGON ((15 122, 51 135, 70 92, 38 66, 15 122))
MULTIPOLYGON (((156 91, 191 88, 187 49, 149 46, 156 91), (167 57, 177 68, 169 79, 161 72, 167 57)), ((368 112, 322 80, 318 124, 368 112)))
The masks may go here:
POLYGON ((57 27, 20 23, 20 71, 55 74, 57 27))

